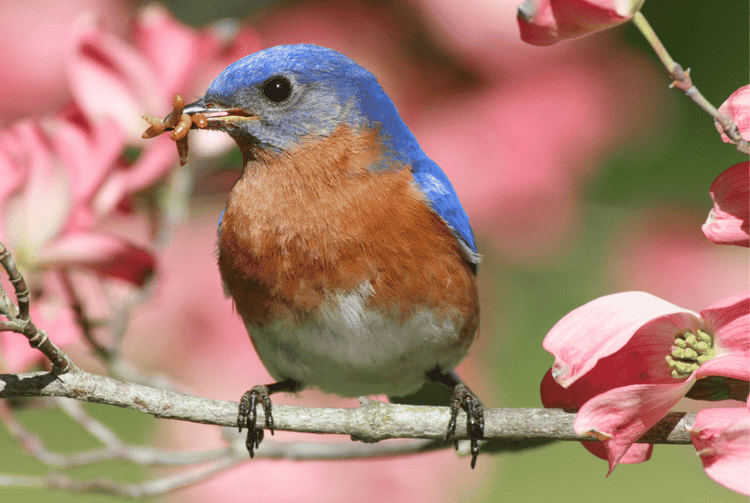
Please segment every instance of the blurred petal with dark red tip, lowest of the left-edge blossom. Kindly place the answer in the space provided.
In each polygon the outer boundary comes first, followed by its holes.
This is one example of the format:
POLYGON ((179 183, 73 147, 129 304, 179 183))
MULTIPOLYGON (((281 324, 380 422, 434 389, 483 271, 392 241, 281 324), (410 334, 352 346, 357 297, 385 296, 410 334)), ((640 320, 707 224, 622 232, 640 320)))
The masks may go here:
POLYGON ((113 278, 142 285, 153 273, 154 256, 143 248, 105 234, 66 234, 44 247, 40 265, 85 267, 113 278))

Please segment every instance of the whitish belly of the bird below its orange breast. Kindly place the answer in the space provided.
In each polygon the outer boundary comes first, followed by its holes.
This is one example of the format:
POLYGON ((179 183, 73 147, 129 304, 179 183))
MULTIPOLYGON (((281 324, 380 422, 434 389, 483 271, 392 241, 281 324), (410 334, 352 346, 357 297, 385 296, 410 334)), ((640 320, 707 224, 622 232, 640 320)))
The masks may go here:
POLYGON ((449 370, 471 338, 429 309, 406 319, 366 307, 372 287, 332 296, 303 323, 248 326, 260 359, 274 379, 294 379, 342 396, 403 396, 419 389, 436 366, 449 370))

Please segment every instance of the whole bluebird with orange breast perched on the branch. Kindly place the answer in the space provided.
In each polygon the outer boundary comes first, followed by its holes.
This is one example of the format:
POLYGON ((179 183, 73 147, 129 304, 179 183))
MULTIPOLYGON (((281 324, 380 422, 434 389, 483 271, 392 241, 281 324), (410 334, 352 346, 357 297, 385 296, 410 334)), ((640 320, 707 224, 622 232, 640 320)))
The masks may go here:
POLYGON ((466 412, 474 467, 483 409, 453 369, 478 329, 480 257, 453 186, 376 78, 331 49, 272 47, 231 64, 184 113, 229 134, 244 162, 218 263, 276 380, 240 401, 250 455, 256 406, 273 433, 273 393, 398 401, 432 382, 451 391, 446 439, 466 412))

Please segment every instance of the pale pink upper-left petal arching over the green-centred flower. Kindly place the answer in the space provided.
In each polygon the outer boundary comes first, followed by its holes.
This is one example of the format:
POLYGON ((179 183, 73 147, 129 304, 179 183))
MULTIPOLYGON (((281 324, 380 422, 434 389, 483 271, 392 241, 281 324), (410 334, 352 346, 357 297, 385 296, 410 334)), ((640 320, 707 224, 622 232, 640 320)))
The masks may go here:
POLYGON ((644 292, 607 295, 571 311, 542 343, 555 356, 555 380, 563 387, 570 386, 601 358, 625 346, 644 324, 668 315, 687 315, 680 323, 699 323, 692 311, 644 292))

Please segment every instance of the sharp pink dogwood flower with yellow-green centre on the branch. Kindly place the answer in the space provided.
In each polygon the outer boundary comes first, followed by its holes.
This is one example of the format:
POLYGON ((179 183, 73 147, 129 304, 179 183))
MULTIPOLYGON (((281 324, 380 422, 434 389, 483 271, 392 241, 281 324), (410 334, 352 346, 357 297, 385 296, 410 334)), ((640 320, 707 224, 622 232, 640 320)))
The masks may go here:
POLYGON ((555 363, 541 385, 545 407, 578 409, 584 446, 620 462, 646 461, 634 444, 683 397, 747 399, 750 297, 738 295, 700 314, 643 292, 608 295, 562 318, 544 339, 555 363), (711 379, 706 379, 706 378, 711 379))

